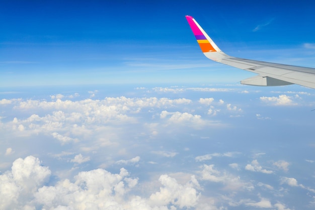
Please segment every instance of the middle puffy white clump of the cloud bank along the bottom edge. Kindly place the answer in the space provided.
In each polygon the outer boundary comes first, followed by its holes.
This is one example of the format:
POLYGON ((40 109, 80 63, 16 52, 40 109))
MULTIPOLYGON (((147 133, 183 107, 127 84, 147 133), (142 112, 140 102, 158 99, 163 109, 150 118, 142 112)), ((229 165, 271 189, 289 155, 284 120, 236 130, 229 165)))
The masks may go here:
POLYGON ((120 169, 119 174, 104 169, 80 172, 74 177, 74 182, 65 179, 55 186, 39 188, 35 194, 36 203, 42 204, 43 208, 123 208, 123 202, 119 201, 137 184, 137 179, 127 178, 128 175, 129 172, 124 168, 120 169))

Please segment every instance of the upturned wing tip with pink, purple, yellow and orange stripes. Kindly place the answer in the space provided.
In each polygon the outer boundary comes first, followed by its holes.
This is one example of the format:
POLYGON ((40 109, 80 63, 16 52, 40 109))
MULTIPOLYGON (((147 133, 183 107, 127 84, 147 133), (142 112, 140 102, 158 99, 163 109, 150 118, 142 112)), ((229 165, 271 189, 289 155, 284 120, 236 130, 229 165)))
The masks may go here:
POLYGON ((203 53, 222 52, 193 17, 186 16, 186 19, 203 53))

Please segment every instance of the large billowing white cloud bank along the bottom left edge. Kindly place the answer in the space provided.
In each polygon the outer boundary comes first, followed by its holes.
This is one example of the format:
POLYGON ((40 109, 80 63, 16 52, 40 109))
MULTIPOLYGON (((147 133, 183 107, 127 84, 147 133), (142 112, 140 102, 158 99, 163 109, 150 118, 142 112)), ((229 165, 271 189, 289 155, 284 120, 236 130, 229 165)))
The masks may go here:
POLYGON ((14 161, 12 170, 0 176, 1 209, 170 209, 198 204, 200 188, 195 176, 184 184, 161 175, 160 190, 148 196, 129 193, 138 178, 121 168, 119 173, 104 169, 79 172, 73 181, 63 179, 45 185, 51 175, 38 158, 14 161))

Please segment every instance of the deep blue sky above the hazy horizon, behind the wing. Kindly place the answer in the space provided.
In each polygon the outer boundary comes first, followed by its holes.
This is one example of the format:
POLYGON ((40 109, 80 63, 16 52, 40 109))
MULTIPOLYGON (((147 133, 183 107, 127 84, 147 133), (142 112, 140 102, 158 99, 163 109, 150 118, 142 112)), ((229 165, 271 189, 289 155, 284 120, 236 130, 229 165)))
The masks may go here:
POLYGON ((200 53, 185 15, 233 56, 315 66, 302 59, 314 51, 314 6, 309 1, 1 1, 0 83, 205 82, 215 64, 200 53), (307 55, 305 46, 311 49, 307 55))

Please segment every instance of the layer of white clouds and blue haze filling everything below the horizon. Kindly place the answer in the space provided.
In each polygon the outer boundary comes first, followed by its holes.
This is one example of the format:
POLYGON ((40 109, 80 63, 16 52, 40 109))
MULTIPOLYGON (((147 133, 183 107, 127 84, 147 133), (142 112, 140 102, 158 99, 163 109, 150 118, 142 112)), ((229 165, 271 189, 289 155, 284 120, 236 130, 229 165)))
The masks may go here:
POLYGON ((308 109, 312 95, 238 88, 1 99, 0 208, 293 209, 286 197, 303 190, 311 209, 315 187, 283 155, 305 125, 276 125, 283 106, 308 109))

